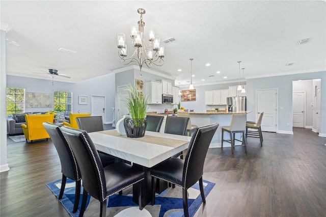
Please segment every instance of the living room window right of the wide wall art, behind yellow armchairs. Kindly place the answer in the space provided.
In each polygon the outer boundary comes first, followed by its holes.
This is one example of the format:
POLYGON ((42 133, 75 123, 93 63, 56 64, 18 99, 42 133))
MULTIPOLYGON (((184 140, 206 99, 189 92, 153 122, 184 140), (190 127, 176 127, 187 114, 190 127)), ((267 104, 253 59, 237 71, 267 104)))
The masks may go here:
POLYGON ((72 111, 71 92, 55 91, 53 94, 53 110, 55 112, 64 112, 69 115, 72 111))

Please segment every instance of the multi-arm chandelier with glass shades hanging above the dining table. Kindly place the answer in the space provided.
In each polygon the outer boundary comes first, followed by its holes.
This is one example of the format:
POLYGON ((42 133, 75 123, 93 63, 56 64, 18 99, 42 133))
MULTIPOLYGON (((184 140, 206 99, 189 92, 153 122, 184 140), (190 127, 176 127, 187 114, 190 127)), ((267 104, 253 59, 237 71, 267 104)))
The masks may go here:
POLYGON ((156 66, 164 64, 164 60, 162 59, 164 58, 164 46, 160 46, 160 38, 155 36, 153 31, 149 33, 149 46, 147 46, 144 37, 145 22, 143 21, 143 14, 145 14, 146 11, 139 8, 137 12, 141 15, 141 20, 138 21, 138 30, 137 25, 132 25, 130 31, 131 43, 134 48, 133 54, 131 57, 127 58, 126 37, 123 33, 118 34, 118 54, 123 65, 137 62, 142 71, 143 64, 146 64, 148 68, 150 68, 152 64, 156 66))

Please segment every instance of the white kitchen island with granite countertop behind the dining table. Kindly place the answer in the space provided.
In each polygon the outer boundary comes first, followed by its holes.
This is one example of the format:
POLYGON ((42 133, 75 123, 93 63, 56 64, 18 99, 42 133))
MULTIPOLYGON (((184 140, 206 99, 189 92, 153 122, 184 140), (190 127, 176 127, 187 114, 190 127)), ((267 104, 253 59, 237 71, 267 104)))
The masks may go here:
MULTIPOLYGON (((251 113, 251 111, 240 111, 240 112, 225 112, 225 111, 219 111, 219 112, 178 112, 178 113, 186 113, 190 114, 190 119, 193 125, 197 126, 205 126, 212 124, 214 122, 219 123, 219 127, 216 130, 214 137, 210 143, 210 148, 216 148, 221 147, 221 140, 222 140, 222 126, 229 126, 231 122, 232 114, 248 114, 251 113)), ((178 114, 177 114, 178 115, 178 114)), ((236 139, 241 140, 242 135, 240 133, 236 133, 236 139)), ((225 133, 224 138, 226 140, 230 139, 230 134, 225 133)), ((240 145, 240 142, 235 143, 235 145, 240 145)), ((224 147, 231 147, 230 143, 224 143, 224 147)))

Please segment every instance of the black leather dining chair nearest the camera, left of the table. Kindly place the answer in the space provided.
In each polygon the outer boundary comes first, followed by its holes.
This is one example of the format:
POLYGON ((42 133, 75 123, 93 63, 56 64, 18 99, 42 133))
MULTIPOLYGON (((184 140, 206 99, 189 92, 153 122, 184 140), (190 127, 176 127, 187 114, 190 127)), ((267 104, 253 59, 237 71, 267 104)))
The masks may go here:
MULTIPOLYGON (((100 201, 100 216, 105 216, 106 200, 122 189, 137 184, 139 192, 142 192, 144 172, 124 162, 117 162, 103 168, 98 152, 85 130, 60 127, 64 138, 69 143, 75 155, 80 174, 83 178, 83 202, 79 216, 83 216, 87 195, 100 201)), ((141 206, 141 195, 139 194, 139 208, 141 206)))

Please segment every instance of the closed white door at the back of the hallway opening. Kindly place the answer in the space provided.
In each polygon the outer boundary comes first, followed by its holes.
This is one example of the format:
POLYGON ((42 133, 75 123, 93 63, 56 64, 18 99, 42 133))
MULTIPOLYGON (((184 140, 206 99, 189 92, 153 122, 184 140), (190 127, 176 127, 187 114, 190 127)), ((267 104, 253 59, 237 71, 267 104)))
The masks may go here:
POLYGON ((305 127, 305 103, 306 92, 292 93, 292 125, 293 127, 305 127))

